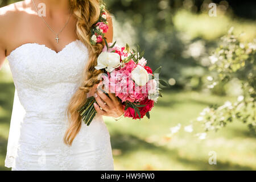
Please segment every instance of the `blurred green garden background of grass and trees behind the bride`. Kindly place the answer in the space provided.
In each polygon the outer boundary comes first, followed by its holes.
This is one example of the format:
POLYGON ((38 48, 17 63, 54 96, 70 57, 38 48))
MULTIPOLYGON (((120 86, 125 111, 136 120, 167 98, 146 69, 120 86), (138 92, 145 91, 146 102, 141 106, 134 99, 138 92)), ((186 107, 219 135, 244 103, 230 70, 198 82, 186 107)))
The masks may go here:
MULTIPOLYGON (((13 2, 0 0, 0 7, 13 2)), ((209 71, 212 65, 209 56, 230 27, 234 27, 234 35, 244 33, 238 38, 240 42, 253 42, 255 2, 109 0, 105 3, 113 15, 114 39, 119 44, 139 44, 145 50, 148 65, 152 69, 162 65, 160 76, 170 84, 169 88, 162 88, 163 98, 159 98, 151 111, 149 121, 125 118, 115 122, 105 118, 115 170, 255 170, 255 134, 239 117, 217 132, 209 131, 205 138, 196 135, 204 133, 201 125, 193 126, 192 133, 184 130, 194 119, 200 120, 205 107, 236 102, 243 95, 242 83, 237 81, 239 73, 234 73, 228 82, 218 82, 214 88, 208 86, 209 80, 217 75, 209 71), (208 14, 212 2, 216 3, 217 16, 208 14), (177 133, 173 130, 175 126, 177 133), (217 164, 209 164, 210 151, 216 152, 217 164)), ((14 97, 13 80, 5 62, 0 71, 2 170, 8 169, 4 160, 14 97)), ((246 79, 242 82, 247 82, 246 79)), ((251 123, 254 125, 255 121, 251 123)))

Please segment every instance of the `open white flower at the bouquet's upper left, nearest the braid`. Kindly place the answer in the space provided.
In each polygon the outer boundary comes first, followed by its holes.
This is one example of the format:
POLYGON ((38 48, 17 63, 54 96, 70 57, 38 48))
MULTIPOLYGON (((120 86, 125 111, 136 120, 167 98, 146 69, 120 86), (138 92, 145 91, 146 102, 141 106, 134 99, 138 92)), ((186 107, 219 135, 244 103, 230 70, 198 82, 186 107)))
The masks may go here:
POLYGON ((112 72, 115 68, 121 66, 120 56, 114 52, 101 52, 97 59, 96 69, 106 69, 107 72, 112 72))

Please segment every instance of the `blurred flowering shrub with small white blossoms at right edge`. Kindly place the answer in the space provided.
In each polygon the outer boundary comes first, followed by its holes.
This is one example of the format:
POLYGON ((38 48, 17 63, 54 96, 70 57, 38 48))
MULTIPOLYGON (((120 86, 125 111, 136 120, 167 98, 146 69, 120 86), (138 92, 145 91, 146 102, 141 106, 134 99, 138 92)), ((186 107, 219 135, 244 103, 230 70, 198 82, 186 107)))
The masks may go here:
MULTIPOLYGON (((218 83, 227 83, 236 79, 242 94, 237 102, 225 102, 222 106, 210 106, 203 110, 197 120, 203 123, 205 130, 218 130, 237 119, 246 123, 251 133, 256 134, 256 39, 243 43, 233 35, 233 28, 221 38, 220 47, 210 57, 212 67, 218 76, 209 85, 213 88, 218 83)), ((236 88, 238 89, 238 88, 236 88)))

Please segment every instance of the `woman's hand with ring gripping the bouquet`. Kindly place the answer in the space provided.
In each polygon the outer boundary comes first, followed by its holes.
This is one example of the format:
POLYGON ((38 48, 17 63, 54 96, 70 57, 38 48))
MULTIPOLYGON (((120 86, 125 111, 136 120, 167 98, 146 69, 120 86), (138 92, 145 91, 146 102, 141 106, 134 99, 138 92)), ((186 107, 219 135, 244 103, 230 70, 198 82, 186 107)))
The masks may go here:
POLYGON ((123 114, 123 106, 121 102, 119 102, 118 98, 115 97, 115 94, 108 93, 109 97, 101 90, 94 94, 96 99, 96 103, 94 103, 94 108, 97 113, 101 115, 106 115, 114 118, 118 118, 123 114))

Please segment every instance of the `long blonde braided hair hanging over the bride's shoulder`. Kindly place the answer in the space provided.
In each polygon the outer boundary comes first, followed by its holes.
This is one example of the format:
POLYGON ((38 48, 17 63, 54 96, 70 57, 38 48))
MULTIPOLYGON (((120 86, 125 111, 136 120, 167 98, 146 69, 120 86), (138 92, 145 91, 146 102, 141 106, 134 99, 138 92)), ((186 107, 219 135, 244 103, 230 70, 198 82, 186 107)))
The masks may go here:
POLYGON ((67 107, 69 126, 64 135, 64 143, 71 146, 82 125, 78 110, 85 104, 86 94, 90 88, 100 82, 97 77, 101 71, 94 67, 97 64, 97 57, 101 53, 104 44, 103 42, 97 43, 96 46, 90 44, 90 30, 100 17, 100 5, 102 2, 99 0, 69 0, 69 3, 71 11, 73 11, 77 18, 76 34, 79 40, 88 48, 89 53, 89 60, 83 73, 84 81, 71 98, 67 107))

